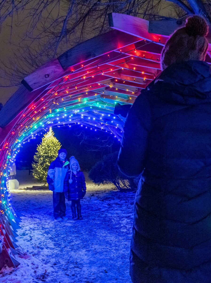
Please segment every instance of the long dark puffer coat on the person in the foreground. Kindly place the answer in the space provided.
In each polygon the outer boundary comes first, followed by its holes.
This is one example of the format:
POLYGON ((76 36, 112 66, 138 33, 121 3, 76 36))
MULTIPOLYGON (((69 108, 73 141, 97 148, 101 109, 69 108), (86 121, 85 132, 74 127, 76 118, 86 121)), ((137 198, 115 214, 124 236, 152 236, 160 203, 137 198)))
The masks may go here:
POLYGON ((210 283, 207 63, 173 64, 141 92, 125 123, 118 165, 128 176, 142 172, 131 241, 133 282, 210 283))

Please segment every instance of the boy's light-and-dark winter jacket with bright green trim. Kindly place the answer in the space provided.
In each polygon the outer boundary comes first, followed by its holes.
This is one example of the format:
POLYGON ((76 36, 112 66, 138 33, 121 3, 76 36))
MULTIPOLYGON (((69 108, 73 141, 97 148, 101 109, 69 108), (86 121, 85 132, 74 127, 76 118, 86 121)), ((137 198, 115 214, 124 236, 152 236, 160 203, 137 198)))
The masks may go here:
POLYGON ((54 161, 50 163, 47 183, 49 184, 49 190, 53 192, 65 192, 64 179, 67 171, 69 170, 69 162, 65 159, 65 162, 61 161, 59 157, 56 157, 54 161))

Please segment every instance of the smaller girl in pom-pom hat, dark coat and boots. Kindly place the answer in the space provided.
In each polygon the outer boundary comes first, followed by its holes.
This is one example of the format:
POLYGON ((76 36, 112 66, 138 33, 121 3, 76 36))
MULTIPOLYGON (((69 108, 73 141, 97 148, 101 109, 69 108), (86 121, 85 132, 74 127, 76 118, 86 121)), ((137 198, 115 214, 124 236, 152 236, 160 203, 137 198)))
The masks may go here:
POLYGON ((81 204, 80 200, 83 199, 86 193, 86 183, 83 172, 80 171, 78 160, 74 156, 70 158, 70 170, 67 171, 64 180, 64 190, 67 191, 66 198, 71 200, 71 211, 73 220, 81 220, 81 204), (78 218, 76 216, 76 207, 78 212, 78 218))

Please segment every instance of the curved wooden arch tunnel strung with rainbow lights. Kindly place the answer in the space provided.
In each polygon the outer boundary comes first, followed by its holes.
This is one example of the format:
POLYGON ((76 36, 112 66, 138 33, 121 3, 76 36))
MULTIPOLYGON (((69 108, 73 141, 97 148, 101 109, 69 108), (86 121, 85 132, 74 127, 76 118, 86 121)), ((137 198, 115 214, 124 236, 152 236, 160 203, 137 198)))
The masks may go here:
MULTIPOLYGON (((14 255, 21 215, 10 203, 7 176, 20 145, 43 129, 76 123, 120 140, 125 119, 115 117, 115 104, 132 104, 154 80, 168 36, 184 22, 112 13, 109 25, 113 30, 29 74, 0 111, 0 269, 18 265, 14 255)), ((209 44, 209 64, 210 52, 209 44)))

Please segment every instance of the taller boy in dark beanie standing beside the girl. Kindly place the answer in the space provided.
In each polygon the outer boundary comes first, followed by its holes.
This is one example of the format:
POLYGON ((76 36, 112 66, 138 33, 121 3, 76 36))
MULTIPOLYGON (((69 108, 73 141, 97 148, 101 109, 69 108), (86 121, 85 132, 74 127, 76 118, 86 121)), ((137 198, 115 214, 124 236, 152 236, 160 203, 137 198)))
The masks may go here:
POLYGON ((53 207, 54 207, 54 220, 68 220, 65 216, 65 191, 64 191, 64 178, 69 169, 69 162, 66 159, 67 151, 64 148, 60 148, 58 151, 58 157, 50 163, 47 183, 49 184, 49 190, 53 192, 53 207))

